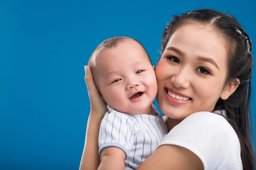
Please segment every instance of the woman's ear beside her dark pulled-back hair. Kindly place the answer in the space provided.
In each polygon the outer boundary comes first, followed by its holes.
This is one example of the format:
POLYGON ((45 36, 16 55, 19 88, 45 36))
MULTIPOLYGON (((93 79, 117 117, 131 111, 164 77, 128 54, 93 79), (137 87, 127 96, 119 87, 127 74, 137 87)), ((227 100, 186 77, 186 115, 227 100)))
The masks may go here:
POLYGON ((236 91, 239 84, 240 84, 239 79, 232 79, 229 82, 227 82, 226 87, 222 91, 221 99, 222 100, 227 100, 229 98, 229 96, 231 96, 231 94, 233 94, 236 91))

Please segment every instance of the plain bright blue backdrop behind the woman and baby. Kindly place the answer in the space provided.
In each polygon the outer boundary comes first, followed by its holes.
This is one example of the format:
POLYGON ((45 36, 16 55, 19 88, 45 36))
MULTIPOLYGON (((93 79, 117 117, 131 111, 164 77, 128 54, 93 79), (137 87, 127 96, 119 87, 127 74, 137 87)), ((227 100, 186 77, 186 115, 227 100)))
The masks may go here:
POLYGON ((155 62, 173 14, 214 8, 234 15, 256 42, 255 7, 255 0, 1 0, 0 169, 79 168, 90 112, 84 65, 103 40, 133 37, 155 62))

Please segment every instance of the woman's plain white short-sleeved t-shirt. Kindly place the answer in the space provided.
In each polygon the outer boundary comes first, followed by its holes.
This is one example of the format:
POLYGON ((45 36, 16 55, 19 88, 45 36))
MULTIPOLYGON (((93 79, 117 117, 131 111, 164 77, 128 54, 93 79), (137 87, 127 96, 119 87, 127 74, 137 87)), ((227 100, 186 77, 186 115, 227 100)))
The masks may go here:
POLYGON ((210 112, 194 113, 175 126, 158 145, 173 144, 195 153, 204 170, 242 170, 241 147, 227 120, 210 112))

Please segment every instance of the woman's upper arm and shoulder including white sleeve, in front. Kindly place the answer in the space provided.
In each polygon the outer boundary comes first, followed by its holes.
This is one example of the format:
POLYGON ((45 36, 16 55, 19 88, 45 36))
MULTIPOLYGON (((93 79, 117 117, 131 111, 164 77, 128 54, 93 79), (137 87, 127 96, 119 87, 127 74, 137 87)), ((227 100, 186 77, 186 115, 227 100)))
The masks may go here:
POLYGON ((198 112, 172 128, 137 170, 226 170, 235 167, 241 169, 241 158, 239 139, 233 127, 223 116, 198 112))

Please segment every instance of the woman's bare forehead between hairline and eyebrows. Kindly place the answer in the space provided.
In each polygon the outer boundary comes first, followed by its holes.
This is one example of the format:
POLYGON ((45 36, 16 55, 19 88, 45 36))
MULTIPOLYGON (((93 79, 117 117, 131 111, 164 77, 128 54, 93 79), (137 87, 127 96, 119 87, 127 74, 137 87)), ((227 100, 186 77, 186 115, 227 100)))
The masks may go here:
POLYGON ((172 48, 178 49, 186 57, 207 57, 217 64, 226 63, 226 45, 209 26, 181 26, 170 37, 165 52, 172 48))

